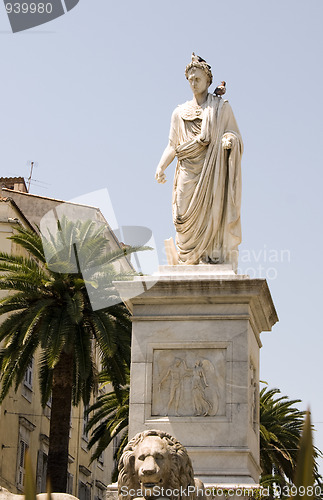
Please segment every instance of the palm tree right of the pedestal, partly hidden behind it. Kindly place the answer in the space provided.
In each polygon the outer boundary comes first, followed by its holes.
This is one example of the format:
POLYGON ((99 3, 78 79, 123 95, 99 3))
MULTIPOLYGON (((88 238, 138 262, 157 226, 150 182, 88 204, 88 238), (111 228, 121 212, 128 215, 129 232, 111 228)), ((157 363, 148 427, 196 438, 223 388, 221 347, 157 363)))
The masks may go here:
MULTIPOLYGON (((260 391, 260 465, 261 483, 280 486, 293 484, 305 411, 294 405, 300 399, 279 396, 279 389, 260 391)), ((321 483, 317 459, 322 456, 314 447, 314 478, 321 483)))

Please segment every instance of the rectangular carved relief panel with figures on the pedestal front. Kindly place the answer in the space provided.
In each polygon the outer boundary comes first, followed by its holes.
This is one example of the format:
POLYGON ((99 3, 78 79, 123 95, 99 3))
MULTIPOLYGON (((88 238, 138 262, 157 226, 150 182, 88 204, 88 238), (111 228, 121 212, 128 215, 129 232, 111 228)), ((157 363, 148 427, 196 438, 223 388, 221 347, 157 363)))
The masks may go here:
POLYGON ((153 416, 225 414, 225 348, 153 351, 153 416))

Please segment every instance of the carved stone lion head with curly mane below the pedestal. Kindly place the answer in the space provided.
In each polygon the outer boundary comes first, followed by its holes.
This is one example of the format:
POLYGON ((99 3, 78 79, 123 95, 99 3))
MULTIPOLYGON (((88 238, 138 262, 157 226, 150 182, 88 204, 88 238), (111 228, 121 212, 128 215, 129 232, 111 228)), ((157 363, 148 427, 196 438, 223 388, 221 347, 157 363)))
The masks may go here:
POLYGON ((136 434, 119 462, 119 500, 136 497, 195 500, 203 483, 194 480, 186 449, 167 432, 148 430, 136 434))

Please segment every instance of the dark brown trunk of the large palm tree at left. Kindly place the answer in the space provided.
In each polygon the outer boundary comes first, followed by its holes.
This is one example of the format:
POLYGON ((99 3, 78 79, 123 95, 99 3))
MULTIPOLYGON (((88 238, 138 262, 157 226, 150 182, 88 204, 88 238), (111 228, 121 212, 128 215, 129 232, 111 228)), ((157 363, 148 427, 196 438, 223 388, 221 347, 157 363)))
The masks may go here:
POLYGON ((73 386, 73 354, 61 353, 54 368, 47 481, 53 492, 66 493, 73 386))

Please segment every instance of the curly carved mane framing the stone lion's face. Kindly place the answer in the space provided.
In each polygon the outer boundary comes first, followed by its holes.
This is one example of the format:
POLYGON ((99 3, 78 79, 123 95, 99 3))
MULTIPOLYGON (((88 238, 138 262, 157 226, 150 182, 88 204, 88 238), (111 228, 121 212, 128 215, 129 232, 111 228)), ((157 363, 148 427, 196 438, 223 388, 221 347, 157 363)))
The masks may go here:
MULTIPOLYGON (((173 491, 181 491, 182 488, 183 491, 188 486, 195 486, 191 459, 189 458, 184 446, 173 436, 167 434, 167 432, 162 432, 159 430, 148 430, 136 434, 136 436, 129 441, 120 458, 118 466, 119 500, 132 500, 137 495, 129 493, 128 495, 126 495, 125 492, 129 492, 130 490, 134 490, 137 492, 140 490, 141 486, 138 474, 135 471, 135 451, 138 445, 142 443, 148 436, 159 437, 166 444, 167 452, 171 457, 169 481, 168 484, 165 485, 165 487, 173 491)), ((202 483, 198 481, 197 486, 200 486, 201 484, 202 483)), ((189 495, 185 495, 182 497, 178 495, 168 496, 168 498, 170 498, 171 500, 181 500, 181 498, 194 500, 195 497, 195 492, 190 492, 189 495)))

